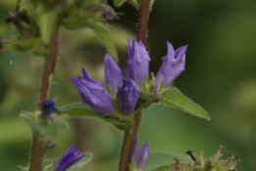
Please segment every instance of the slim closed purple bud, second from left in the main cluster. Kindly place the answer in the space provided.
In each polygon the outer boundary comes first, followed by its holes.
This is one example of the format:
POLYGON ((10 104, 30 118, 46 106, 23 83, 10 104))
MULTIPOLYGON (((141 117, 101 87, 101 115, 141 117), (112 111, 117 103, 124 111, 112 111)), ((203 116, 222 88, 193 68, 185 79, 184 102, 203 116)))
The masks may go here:
POLYGON ((122 71, 109 54, 105 55, 104 63, 106 83, 111 86, 115 93, 117 93, 123 80, 122 71))

